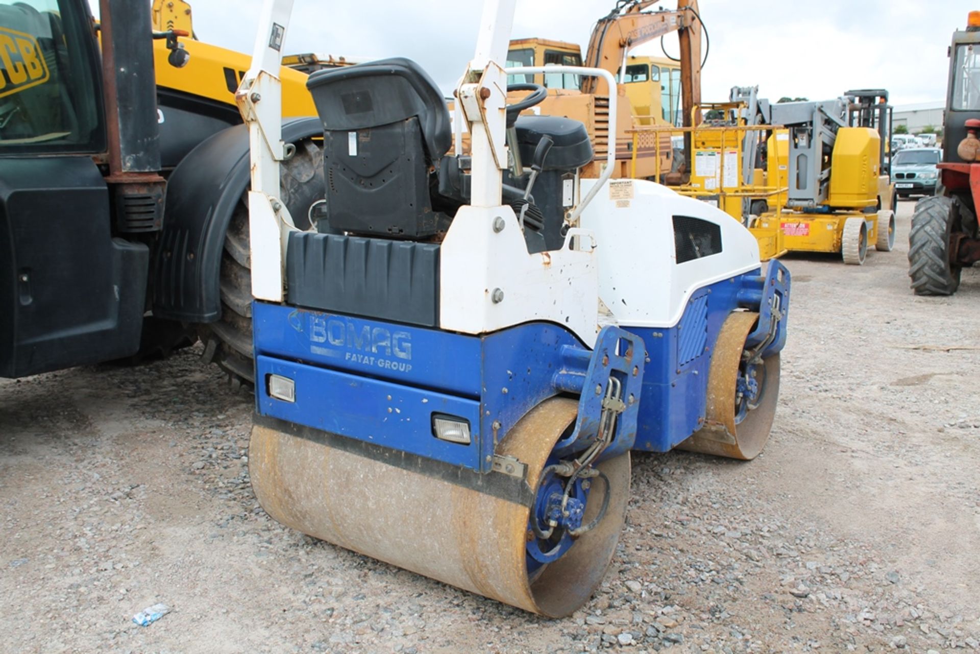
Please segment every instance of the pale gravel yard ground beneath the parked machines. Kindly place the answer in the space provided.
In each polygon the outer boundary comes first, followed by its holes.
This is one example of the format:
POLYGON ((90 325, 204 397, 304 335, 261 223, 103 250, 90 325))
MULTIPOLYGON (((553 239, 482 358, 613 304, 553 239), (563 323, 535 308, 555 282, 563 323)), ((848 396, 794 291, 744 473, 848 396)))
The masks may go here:
POLYGON ((980 270, 912 296, 912 207, 863 267, 785 260, 766 450, 634 455, 613 565, 565 620, 273 523, 250 398, 197 350, 0 380, 0 651, 978 650, 980 270))

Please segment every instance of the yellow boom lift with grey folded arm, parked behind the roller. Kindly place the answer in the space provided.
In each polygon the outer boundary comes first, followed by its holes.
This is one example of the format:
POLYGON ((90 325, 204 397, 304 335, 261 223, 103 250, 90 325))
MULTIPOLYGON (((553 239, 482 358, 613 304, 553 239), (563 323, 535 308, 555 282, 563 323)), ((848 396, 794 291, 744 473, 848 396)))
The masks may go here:
MULTIPOLYGON (((860 265, 869 243, 892 249, 893 191, 882 167, 891 125, 887 91, 770 107, 757 88, 736 86, 728 102, 695 111, 707 117, 697 127, 635 126, 632 150, 659 147, 664 133, 690 133, 690 176, 674 189, 750 227, 762 259, 840 252, 845 263, 860 265)), ((638 167, 631 171, 642 176, 638 167)))

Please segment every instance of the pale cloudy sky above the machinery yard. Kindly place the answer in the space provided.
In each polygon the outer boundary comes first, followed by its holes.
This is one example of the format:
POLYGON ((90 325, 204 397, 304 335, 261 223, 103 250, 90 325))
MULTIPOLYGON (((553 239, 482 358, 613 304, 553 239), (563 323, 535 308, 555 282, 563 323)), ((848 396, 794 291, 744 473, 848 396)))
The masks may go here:
MULTIPOLYGON (((189 2, 199 38, 251 51, 261 0, 189 2)), ((517 0, 512 36, 584 48, 596 19, 613 5, 614 0, 517 0)), ((283 52, 409 57, 451 91, 472 57, 481 6, 477 0, 295 0, 283 52)), ((946 96, 947 48, 972 9, 980 9, 980 2, 701 0, 711 37, 702 98, 726 100, 731 86, 758 85, 760 97, 773 101, 826 99, 871 87, 887 88, 893 105, 940 101, 946 96)), ((665 47, 676 56, 675 34, 666 37, 665 47)), ((656 42, 631 54, 661 52, 656 42)))

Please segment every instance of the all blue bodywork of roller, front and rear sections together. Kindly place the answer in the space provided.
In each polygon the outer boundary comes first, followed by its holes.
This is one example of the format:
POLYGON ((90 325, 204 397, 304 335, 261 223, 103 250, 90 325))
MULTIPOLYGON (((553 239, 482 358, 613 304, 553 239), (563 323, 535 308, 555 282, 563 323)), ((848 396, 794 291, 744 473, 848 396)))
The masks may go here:
POLYGON ((516 422, 560 393, 579 396, 579 415, 558 450, 580 451, 597 435, 615 377, 625 409, 604 456, 663 452, 704 422, 711 349, 728 314, 761 307, 750 339, 768 356, 785 341, 788 289, 788 273, 770 265, 766 276, 756 271, 699 289, 674 327, 604 327, 593 350, 549 323, 472 336, 257 301, 256 409, 486 473, 516 422), (270 395, 271 375, 293 379, 295 401, 270 395), (470 442, 436 438, 440 414, 466 421, 470 442))

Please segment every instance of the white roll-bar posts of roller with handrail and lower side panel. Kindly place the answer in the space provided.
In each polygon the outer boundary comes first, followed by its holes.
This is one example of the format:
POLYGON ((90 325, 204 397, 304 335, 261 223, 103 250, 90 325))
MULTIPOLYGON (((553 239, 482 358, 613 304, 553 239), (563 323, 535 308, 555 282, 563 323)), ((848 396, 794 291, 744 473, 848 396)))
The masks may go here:
MULTIPOLYGON (((484 333, 544 320, 571 329, 587 345, 598 330, 596 239, 575 225, 586 205, 605 187, 615 164, 616 88, 612 74, 572 66, 506 70, 516 0, 486 0, 476 50, 457 96, 470 133, 471 198, 453 221, 441 248, 440 327, 484 333), (607 166, 569 217, 567 245, 529 255, 513 210, 501 205, 502 171, 507 168, 507 75, 568 73, 598 75, 609 83, 610 147, 607 166), (575 249, 570 245, 575 243, 575 249)), ((282 302, 286 236, 296 229, 279 198, 279 162, 289 146, 281 135, 281 47, 293 0, 264 0, 252 67, 235 100, 251 146, 249 191, 252 294, 282 302)), ((463 126, 456 122, 455 129, 463 126)))

